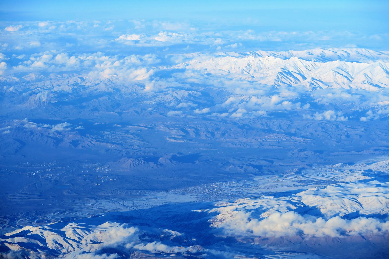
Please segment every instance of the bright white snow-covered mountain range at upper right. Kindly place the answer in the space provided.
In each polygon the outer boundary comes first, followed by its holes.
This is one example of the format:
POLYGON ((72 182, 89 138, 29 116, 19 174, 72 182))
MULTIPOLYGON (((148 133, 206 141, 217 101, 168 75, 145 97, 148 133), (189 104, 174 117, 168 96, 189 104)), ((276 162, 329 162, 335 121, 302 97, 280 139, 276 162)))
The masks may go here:
POLYGON ((252 52, 240 56, 193 58, 178 67, 200 70, 217 77, 256 81, 273 86, 308 89, 358 88, 378 91, 389 87, 389 55, 361 49, 335 52, 327 49, 280 53, 252 52), (352 54, 350 54, 350 52, 352 54), (315 58, 308 59, 307 56, 315 58), (359 58, 350 62, 344 57, 359 58), (383 58, 383 59, 381 59, 383 58), (318 84, 319 83, 319 84, 318 84))

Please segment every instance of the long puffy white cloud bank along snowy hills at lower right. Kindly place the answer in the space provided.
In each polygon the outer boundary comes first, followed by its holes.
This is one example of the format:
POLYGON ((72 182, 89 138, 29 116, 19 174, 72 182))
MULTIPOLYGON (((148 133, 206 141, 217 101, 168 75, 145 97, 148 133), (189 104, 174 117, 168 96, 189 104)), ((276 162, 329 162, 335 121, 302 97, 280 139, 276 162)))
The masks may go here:
POLYGON ((381 222, 374 218, 342 219, 337 216, 326 220, 321 217, 300 215, 293 211, 273 212, 263 219, 252 218, 250 213, 238 212, 232 220, 221 226, 223 226, 224 233, 228 235, 262 238, 281 236, 321 238, 389 234, 389 222, 381 222))

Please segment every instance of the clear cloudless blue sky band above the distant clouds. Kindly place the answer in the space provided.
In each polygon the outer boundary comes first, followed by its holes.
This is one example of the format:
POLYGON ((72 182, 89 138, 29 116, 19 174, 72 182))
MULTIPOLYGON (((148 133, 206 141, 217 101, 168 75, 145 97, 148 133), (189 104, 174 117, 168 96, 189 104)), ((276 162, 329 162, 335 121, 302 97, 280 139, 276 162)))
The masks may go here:
POLYGON ((163 19, 277 30, 388 32, 389 1, 1 1, 8 21, 163 19))

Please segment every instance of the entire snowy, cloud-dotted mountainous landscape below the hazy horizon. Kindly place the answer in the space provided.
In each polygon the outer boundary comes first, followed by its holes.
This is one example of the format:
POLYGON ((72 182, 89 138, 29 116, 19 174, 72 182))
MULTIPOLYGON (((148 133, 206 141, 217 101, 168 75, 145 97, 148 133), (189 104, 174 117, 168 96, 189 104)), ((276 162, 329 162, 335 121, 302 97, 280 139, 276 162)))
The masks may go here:
POLYGON ((388 52, 11 58, 0 257, 387 256, 388 52))

